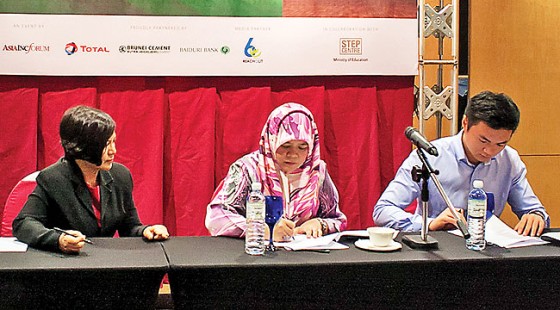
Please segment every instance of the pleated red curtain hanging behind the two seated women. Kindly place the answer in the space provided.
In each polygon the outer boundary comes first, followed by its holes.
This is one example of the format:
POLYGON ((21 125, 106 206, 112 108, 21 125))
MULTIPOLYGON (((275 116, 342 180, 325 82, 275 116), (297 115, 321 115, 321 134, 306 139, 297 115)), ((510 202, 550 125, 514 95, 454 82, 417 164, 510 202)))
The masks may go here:
POLYGON ((229 165, 257 148, 285 102, 316 118, 321 156, 349 229, 373 224, 373 205, 410 152, 413 77, 0 77, 0 205, 25 175, 62 155, 58 123, 85 104, 117 123, 117 161, 134 179, 145 223, 207 235, 204 216, 229 165))

